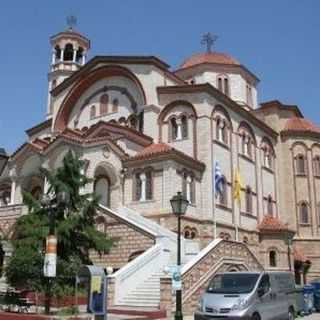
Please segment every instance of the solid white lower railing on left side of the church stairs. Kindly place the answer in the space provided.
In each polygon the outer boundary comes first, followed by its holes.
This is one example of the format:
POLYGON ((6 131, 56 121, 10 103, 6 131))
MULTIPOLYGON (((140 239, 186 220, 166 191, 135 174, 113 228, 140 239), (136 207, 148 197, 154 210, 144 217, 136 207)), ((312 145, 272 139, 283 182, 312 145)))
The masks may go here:
POLYGON ((111 275, 111 278, 115 279, 114 303, 121 303, 126 294, 137 288, 152 274, 163 272, 169 259, 170 251, 164 249, 161 244, 156 244, 111 275))

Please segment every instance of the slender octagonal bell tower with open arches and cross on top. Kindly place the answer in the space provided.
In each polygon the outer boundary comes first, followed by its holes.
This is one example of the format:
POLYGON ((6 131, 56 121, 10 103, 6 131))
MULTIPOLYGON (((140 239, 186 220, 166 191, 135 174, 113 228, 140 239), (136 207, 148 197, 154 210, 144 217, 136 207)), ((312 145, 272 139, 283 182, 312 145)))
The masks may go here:
POLYGON ((52 58, 48 74, 47 119, 54 112, 51 91, 86 63, 90 40, 74 30, 76 24, 76 17, 67 17, 67 30, 50 38, 52 58))

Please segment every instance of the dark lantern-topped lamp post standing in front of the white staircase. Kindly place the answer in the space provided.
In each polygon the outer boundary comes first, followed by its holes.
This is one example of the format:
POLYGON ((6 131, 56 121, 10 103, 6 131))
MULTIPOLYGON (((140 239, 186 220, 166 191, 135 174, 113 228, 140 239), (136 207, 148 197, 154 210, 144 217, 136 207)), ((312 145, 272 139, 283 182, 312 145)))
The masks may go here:
POLYGON ((181 216, 186 213, 189 201, 182 195, 181 192, 178 192, 170 200, 172 212, 178 218, 178 235, 177 235, 177 272, 179 273, 178 277, 180 278, 179 288, 176 290, 176 313, 175 320, 182 320, 182 291, 181 291, 181 216))

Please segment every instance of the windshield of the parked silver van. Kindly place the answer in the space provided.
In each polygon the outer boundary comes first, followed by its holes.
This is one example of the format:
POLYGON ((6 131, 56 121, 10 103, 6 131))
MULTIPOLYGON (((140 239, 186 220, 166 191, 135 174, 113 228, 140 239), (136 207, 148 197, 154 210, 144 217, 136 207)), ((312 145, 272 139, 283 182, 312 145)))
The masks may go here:
POLYGON ((253 290, 259 274, 227 273, 216 275, 209 283, 208 293, 240 294, 253 290))

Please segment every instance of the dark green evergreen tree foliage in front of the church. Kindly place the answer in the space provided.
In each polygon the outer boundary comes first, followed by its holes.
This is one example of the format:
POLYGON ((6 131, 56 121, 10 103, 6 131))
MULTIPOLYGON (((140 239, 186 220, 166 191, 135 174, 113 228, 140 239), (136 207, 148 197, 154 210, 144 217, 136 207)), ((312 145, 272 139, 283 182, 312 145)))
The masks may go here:
MULTIPOLYGON (((108 252, 112 239, 95 228, 99 199, 85 193, 91 183, 83 173, 84 161, 69 151, 63 164, 56 171, 41 169, 49 183, 47 196, 57 204, 54 210, 57 247, 56 291, 74 282, 82 264, 91 264, 90 251, 108 252), (66 192, 70 196, 65 207, 58 206, 58 195, 66 192)), ((6 277, 11 286, 42 291, 46 286, 43 277, 45 240, 49 234, 49 210, 31 194, 24 194, 28 214, 20 217, 14 229, 13 255, 6 268, 6 277)))

